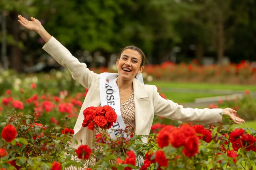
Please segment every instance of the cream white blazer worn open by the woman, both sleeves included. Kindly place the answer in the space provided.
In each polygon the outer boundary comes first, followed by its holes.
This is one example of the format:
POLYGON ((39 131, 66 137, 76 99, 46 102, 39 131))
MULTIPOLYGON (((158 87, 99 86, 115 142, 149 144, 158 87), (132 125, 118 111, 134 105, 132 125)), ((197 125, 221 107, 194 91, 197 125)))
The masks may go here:
MULTIPOLYGON (((90 71, 85 63, 80 63, 62 44, 52 37, 43 49, 61 65, 68 68, 74 80, 83 87, 89 89, 81 107, 77 122, 74 127, 74 137, 78 144, 71 147, 78 148, 81 144, 92 145, 95 133, 82 127, 83 110, 89 106, 100 106, 99 82, 100 74, 90 71), (80 142, 82 140, 82 143, 80 142)), ((222 109, 193 109, 183 108, 171 100, 162 98, 157 92, 156 86, 144 85, 137 79, 133 80, 134 104, 135 104, 135 134, 148 135, 153 123, 154 115, 166 117, 172 120, 191 123, 216 124, 222 120, 222 109)), ((147 139, 143 139, 147 142, 147 139)))

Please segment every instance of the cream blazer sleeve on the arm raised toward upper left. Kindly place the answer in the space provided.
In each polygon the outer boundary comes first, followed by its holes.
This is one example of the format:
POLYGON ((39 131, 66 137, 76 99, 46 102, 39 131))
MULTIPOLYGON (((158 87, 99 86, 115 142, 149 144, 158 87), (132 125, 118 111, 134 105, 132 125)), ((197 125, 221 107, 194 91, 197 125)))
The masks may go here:
POLYGON ((58 40, 52 37, 43 49, 62 66, 69 69, 72 78, 78 81, 83 87, 89 89, 92 82, 99 74, 90 71, 85 63, 80 63, 67 48, 65 48, 58 40))

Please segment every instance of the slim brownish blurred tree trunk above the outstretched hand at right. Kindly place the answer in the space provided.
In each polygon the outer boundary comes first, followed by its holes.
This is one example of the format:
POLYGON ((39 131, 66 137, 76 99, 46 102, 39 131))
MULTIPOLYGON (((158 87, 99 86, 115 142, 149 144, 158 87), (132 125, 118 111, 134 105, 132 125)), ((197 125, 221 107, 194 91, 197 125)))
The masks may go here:
POLYGON ((221 19, 218 21, 217 27, 217 59, 218 63, 222 64, 224 55, 224 26, 221 19))

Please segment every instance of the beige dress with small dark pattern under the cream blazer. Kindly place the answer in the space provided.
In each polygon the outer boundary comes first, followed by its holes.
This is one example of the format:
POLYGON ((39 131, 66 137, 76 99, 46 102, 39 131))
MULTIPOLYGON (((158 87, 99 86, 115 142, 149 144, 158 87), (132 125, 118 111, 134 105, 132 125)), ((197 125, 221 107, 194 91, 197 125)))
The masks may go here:
MULTIPOLYGON (((128 100, 126 100, 122 105, 121 105, 121 116, 124 120, 125 125, 127 126, 129 134, 135 132, 135 105, 134 105, 134 92, 130 95, 128 100)), ((102 131, 100 131, 102 132, 102 131)), ((99 134, 100 132, 95 132, 95 135, 99 134)), ((100 146, 95 147, 96 150, 100 149, 100 146)), ((93 158, 92 158, 93 159, 93 158)), ((93 162, 93 160, 92 160, 93 162)), ((83 170, 84 168, 78 168, 78 170, 83 170)), ((77 170, 76 167, 70 166, 68 168, 65 168, 65 170, 77 170)))

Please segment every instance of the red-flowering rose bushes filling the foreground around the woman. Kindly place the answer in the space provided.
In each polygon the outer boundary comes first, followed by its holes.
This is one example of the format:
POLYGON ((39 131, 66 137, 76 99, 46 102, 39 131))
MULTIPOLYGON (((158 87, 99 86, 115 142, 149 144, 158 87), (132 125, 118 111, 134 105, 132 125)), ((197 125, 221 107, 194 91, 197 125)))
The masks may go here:
MULTIPOLYGON (((63 76, 66 75, 62 75, 62 79, 63 76)), ((161 120, 164 119, 159 118, 158 124, 152 126, 153 133, 148 136, 134 134, 127 139, 124 131, 120 138, 113 140, 103 131, 96 136, 96 146, 72 149, 69 147, 70 141, 75 142, 72 128, 87 90, 70 93, 64 89, 61 92, 51 91, 44 82, 38 82, 35 78, 16 81, 15 85, 19 85, 20 89, 5 90, 0 97, 0 169, 50 170, 64 169, 70 165, 82 167, 84 164, 87 165, 84 169, 118 170, 250 169, 256 166, 255 130, 234 129, 232 122, 225 117, 217 127, 181 122, 171 126, 162 124, 161 120), (33 88, 31 81, 36 85, 33 88), (147 137, 147 144, 141 141, 143 137, 147 137), (94 149, 97 146, 101 146, 103 152, 94 149)), ((61 80, 58 81, 62 84, 61 80)), ((65 82, 70 85, 68 78, 65 82)), ((243 102, 253 106, 250 92, 246 93, 243 102)), ((230 105, 235 103, 232 108, 243 108, 242 103, 238 102, 242 100, 226 102, 230 105)), ((217 105, 224 107, 224 104, 225 101, 217 105)), ((87 119, 85 124, 93 131, 96 131, 96 122, 97 128, 105 128, 108 125, 104 119, 107 123, 115 120, 111 108, 87 109, 84 112, 87 119), (95 121, 96 116, 104 116, 104 119, 95 121)))

